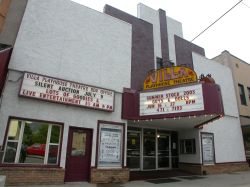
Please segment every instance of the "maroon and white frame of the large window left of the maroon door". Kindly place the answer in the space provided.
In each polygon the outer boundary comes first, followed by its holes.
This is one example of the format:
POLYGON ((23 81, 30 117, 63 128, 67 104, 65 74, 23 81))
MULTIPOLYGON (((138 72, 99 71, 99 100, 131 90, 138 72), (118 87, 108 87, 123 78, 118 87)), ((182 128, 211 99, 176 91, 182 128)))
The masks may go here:
POLYGON ((2 155, 2 158, 0 160, 0 166, 4 166, 4 167, 13 167, 13 166, 14 167, 42 167, 42 168, 58 168, 58 167, 60 167, 61 150, 62 150, 62 142, 63 142, 63 130, 64 130, 64 123, 61 123, 61 122, 10 116, 8 119, 8 122, 7 122, 6 129, 5 129, 4 141, 3 141, 3 146, 2 146, 3 155, 2 155), (19 139, 17 140, 18 145, 17 145, 17 152, 15 155, 15 161, 13 163, 7 163, 7 162, 4 162, 4 157, 5 157, 5 152, 6 152, 5 150, 7 147, 7 143, 8 142, 15 142, 15 140, 8 140, 8 133, 9 133, 9 129, 10 129, 11 120, 21 121, 21 130, 20 130, 19 139), (39 164, 19 163, 19 158, 20 158, 20 153, 21 153, 20 149, 21 149, 21 145, 22 145, 22 141, 23 141, 23 134, 24 134, 23 132, 24 132, 24 127, 25 127, 25 121, 48 123, 48 134, 47 134, 47 138, 46 138, 46 148, 45 148, 45 155, 44 155, 44 162, 43 163, 39 163, 39 164), (60 126, 60 129, 61 129, 60 135, 59 135, 59 143, 57 144, 58 145, 58 162, 57 162, 57 164, 48 164, 49 146, 55 145, 55 143, 50 143, 50 141, 49 141, 50 137, 51 137, 52 125, 58 125, 58 126, 60 126))

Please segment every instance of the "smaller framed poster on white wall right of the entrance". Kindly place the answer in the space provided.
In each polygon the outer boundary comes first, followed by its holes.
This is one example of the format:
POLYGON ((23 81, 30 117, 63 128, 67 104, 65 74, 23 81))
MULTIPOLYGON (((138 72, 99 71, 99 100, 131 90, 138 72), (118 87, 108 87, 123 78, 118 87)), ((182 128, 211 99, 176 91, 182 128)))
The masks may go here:
POLYGON ((215 163, 213 133, 201 133, 201 147, 203 165, 213 165, 215 163))

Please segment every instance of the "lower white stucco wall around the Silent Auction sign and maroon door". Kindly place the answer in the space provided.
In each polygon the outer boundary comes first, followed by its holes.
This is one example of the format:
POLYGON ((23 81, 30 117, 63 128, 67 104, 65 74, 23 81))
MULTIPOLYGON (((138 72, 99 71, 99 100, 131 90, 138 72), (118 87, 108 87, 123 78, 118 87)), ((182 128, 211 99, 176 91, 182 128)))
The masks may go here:
POLYGON ((5 129, 9 116, 60 122, 64 124, 61 152, 61 167, 65 167, 66 148, 69 126, 93 129, 91 165, 95 165, 97 121, 114 121, 126 123, 121 120, 121 93, 115 93, 115 111, 112 113, 92 110, 82 107, 68 106, 57 103, 44 102, 34 99, 20 98, 18 92, 22 82, 21 72, 10 71, 8 75, 3 102, 0 110, 1 139, 3 142, 5 129))

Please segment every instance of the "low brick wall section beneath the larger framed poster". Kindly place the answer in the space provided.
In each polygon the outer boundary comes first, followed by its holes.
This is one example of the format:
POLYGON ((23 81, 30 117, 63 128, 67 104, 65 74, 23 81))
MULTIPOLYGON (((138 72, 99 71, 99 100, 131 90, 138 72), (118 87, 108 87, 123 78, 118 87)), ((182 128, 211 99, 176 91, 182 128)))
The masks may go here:
POLYGON ((91 168, 91 183, 125 183, 129 180, 129 170, 91 168))

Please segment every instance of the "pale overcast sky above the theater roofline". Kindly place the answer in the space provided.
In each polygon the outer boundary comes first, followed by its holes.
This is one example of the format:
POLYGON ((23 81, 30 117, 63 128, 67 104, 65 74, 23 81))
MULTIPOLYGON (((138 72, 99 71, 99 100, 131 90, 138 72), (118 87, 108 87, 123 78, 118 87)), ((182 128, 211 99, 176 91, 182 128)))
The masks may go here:
MULTIPOLYGON (((184 39, 191 41, 202 30, 228 11, 239 0, 73 0, 103 12, 105 4, 137 16, 137 4, 143 3, 181 22, 184 39)), ((232 11, 199 36, 193 43, 213 58, 228 50, 250 64, 250 0, 243 0, 232 11)))

